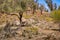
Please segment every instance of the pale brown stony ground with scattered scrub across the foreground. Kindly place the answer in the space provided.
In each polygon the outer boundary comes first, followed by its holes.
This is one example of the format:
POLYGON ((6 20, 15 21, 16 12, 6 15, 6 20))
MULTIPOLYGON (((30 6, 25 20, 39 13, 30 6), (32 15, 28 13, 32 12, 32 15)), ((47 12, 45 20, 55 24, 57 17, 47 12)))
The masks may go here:
POLYGON ((22 20, 22 26, 0 25, 0 40, 60 40, 60 26, 52 18, 24 16, 22 20))

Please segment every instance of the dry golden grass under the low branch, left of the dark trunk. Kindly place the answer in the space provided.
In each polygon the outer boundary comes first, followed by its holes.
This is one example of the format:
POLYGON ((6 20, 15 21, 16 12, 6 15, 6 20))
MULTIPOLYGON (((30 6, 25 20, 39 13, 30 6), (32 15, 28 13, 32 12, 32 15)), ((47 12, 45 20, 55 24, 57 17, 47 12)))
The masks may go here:
POLYGON ((15 15, 11 16, 11 15, 2 14, 2 13, 0 15, 1 15, 0 16, 0 24, 3 24, 7 21, 12 22, 12 21, 15 21, 15 20, 19 20, 18 17, 15 16, 15 15))

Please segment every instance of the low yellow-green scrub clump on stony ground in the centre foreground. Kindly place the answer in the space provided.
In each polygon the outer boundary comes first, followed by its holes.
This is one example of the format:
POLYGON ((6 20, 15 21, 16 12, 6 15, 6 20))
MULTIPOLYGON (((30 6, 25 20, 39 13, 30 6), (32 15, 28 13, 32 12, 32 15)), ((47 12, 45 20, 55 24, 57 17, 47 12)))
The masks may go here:
POLYGON ((24 31, 22 32, 23 37, 27 37, 31 39, 34 35, 38 35, 38 28, 37 27, 25 27, 24 31))

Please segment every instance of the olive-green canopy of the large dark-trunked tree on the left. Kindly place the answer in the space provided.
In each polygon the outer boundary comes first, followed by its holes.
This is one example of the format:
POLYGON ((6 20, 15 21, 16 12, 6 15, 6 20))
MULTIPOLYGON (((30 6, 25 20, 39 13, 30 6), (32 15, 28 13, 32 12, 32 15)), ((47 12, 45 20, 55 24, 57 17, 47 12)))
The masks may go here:
POLYGON ((4 0, 0 5, 1 11, 4 12, 22 11, 24 7, 25 3, 21 0, 4 0))

